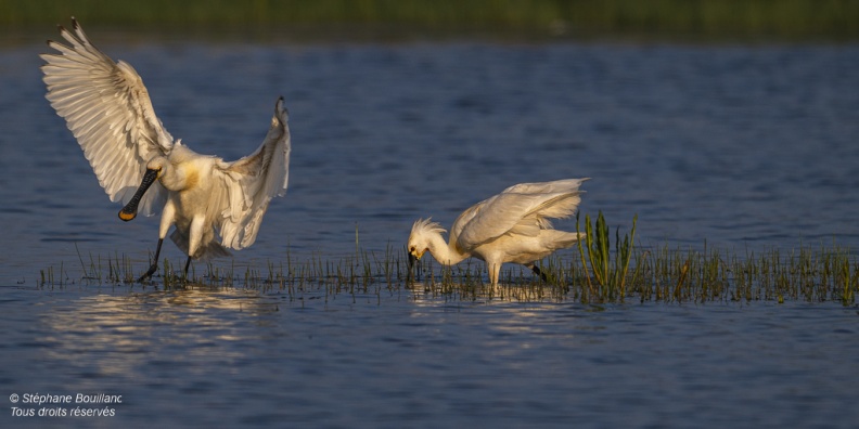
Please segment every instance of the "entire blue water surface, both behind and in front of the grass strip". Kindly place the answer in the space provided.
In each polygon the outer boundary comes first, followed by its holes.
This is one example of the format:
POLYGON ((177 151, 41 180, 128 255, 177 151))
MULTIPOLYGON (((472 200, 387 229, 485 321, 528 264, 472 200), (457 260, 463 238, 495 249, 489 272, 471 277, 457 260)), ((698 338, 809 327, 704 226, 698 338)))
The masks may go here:
MULTIPOLYGON (((399 247, 510 184, 591 177, 581 209, 645 245, 859 246, 859 47, 115 43, 165 127, 231 160, 291 110, 290 190, 238 265, 399 247)), ((51 36, 51 35, 47 35, 51 36)), ((46 36, 46 37, 47 37, 46 36)), ((595 308, 79 285, 145 269, 43 99, 41 40, 0 51, 1 401, 121 394, 7 427, 854 427, 857 309, 595 308), (60 266, 75 285, 39 290, 60 266)), ((559 222, 574 227, 573 222, 559 222)), ((165 256, 182 260, 172 245, 165 256)), ((221 261, 230 265, 232 261, 221 261)), ((21 407, 27 405, 18 403, 21 407)))

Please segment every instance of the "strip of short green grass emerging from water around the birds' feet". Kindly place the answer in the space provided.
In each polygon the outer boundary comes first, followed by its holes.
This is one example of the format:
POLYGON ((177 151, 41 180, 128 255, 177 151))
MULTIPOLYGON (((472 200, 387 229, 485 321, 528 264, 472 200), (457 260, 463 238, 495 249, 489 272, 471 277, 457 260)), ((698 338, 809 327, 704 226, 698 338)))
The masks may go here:
MULTIPOLYGON (((577 220, 577 227, 578 223, 577 220)), ((296 261, 287 252, 285 261, 268 262, 261 268, 205 262, 195 264, 189 278, 184 278, 182 265, 172 265, 165 259, 161 277, 136 284, 139 273, 128 257, 85 258, 78 253, 79 268, 69 270, 68 264, 61 264, 59 270, 42 270, 37 283, 50 289, 73 284, 248 288, 286 294, 291 299, 304 294, 345 294, 375 296, 380 301, 384 294, 410 292, 475 302, 856 302, 859 260, 848 249, 821 246, 738 255, 706 245, 703 250, 636 247, 636 219, 628 233, 620 231, 614 231, 612 250, 611 229, 602 213, 594 224, 586 216, 587 236, 579 246, 540 262, 547 281, 522 265, 507 264, 497 287, 489 285, 484 264, 472 260, 441 266, 427 258, 416 265, 416 275, 410 277, 405 249, 388 245, 381 255, 368 252, 360 246, 357 230, 355 255, 336 260, 313 256, 296 261), (80 280, 74 280, 70 271, 82 272, 80 280)))

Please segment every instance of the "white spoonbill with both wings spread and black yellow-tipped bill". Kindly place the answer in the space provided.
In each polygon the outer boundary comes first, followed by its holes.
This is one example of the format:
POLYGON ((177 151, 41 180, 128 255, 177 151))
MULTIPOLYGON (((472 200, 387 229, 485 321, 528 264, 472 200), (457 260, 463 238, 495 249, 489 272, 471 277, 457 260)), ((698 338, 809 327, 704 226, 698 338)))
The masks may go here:
POLYGON ((125 205, 119 219, 134 219, 138 209, 146 216, 162 211, 155 258, 139 282, 157 271, 171 225, 170 238, 188 253, 185 275, 191 259, 229 256, 227 248, 254 244, 269 202, 286 192, 291 145, 283 98, 253 154, 232 162, 201 155, 164 129, 131 65, 93 47, 74 17, 72 29, 60 27, 70 46, 49 40, 59 53, 40 55, 47 63, 46 98, 65 118, 111 200, 125 205))

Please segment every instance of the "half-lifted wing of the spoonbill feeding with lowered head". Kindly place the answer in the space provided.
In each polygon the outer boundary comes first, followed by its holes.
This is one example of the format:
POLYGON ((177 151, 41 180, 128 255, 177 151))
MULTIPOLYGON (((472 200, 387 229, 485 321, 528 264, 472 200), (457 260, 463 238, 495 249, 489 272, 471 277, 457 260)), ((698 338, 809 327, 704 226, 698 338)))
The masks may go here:
POLYGON ((581 198, 578 187, 588 179, 521 183, 465 210, 453 222, 451 239, 470 250, 504 234, 536 236, 551 229, 549 219, 566 218, 581 198))

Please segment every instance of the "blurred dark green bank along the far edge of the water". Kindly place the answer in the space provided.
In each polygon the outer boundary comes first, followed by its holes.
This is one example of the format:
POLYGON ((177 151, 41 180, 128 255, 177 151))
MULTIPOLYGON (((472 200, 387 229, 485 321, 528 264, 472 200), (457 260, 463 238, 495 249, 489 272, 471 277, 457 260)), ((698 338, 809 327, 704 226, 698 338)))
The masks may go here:
POLYGON ((53 25, 233 29, 374 26, 554 35, 856 38, 852 0, 0 0, 4 28, 53 25))

